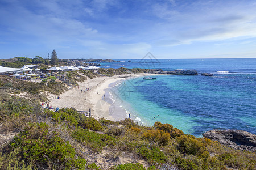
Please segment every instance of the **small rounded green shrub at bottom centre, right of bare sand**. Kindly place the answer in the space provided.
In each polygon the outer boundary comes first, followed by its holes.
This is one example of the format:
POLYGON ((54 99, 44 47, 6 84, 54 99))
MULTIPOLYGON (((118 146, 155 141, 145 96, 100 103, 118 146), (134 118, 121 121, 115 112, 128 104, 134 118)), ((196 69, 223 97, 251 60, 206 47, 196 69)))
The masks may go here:
POLYGON ((142 158, 150 161, 151 164, 163 164, 167 159, 167 156, 155 146, 142 145, 137 149, 137 152, 142 158))

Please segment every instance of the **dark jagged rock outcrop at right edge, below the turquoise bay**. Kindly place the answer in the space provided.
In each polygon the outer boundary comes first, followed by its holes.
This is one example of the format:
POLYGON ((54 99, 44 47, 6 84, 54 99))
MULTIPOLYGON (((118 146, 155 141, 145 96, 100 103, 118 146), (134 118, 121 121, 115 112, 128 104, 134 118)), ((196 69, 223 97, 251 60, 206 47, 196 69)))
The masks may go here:
POLYGON ((219 130, 207 131, 203 137, 218 141, 223 145, 233 147, 238 150, 256 152, 256 135, 243 130, 219 130))

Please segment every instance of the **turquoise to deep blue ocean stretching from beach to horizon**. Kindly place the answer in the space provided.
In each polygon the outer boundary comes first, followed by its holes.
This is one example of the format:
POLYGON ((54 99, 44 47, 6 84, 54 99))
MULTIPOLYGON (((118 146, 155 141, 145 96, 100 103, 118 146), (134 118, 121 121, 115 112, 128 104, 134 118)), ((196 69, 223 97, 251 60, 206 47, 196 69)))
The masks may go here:
MULTIPOLYGON (((144 126, 168 123, 196 137, 212 129, 256 134, 256 58, 142 59, 101 63, 104 68, 196 70, 199 75, 126 78, 111 88, 115 105, 144 126), (212 77, 201 73, 213 73, 212 77)), ((113 86, 113 84, 112 84, 113 86)))

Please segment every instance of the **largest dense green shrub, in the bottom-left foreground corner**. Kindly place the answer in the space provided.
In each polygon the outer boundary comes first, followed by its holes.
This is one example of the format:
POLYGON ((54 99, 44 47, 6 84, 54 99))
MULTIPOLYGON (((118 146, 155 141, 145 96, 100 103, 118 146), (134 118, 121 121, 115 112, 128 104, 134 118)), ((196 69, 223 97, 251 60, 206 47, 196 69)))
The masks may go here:
POLYGON ((30 124, 15 136, 10 143, 10 150, 20 148, 24 160, 34 161, 42 167, 85 168, 86 161, 75 157, 76 151, 69 142, 54 134, 49 135, 48 128, 49 125, 45 123, 30 124))

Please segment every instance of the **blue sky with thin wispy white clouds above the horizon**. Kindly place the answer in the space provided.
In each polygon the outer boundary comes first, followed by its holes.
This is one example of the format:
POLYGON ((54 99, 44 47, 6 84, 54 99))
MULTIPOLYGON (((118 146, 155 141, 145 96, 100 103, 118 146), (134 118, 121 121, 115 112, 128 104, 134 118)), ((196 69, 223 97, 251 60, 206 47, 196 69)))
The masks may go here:
POLYGON ((256 1, 0 0, 0 58, 256 58, 256 1))

